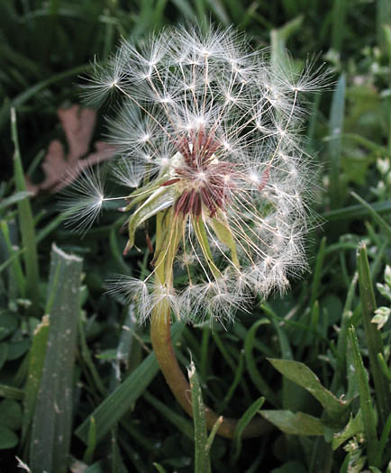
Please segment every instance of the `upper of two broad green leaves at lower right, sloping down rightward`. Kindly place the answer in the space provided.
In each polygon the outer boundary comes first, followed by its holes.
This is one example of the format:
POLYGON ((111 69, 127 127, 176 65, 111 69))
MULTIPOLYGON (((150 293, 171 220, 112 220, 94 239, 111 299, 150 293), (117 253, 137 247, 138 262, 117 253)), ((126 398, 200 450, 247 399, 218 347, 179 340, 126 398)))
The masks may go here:
POLYGON ((270 363, 283 376, 297 385, 304 387, 306 391, 311 393, 323 405, 324 410, 328 414, 330 421, 343 423, 347 412, 347 403, 341 401, 332 394, 328 389, 323 387, 319 378, 310 368, 299 361, 290 359, 268 359, 270 363))

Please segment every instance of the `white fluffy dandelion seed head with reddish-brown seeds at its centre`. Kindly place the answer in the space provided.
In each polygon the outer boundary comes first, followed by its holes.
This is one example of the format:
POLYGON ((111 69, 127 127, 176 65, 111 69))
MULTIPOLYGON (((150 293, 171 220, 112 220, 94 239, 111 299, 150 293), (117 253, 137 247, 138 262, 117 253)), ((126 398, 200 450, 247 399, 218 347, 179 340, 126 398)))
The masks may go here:
MULTIPOLYGON (((305 269, 311 186, 299 95, 322 86, 318 72, 283 73, 232 29, 188 26, 123 41, 108 63, 95 64, 85 93, 90 103, 110 96, 116 104, 108 120, 119 155, 114 177, 140 190, 131 200, 144 188, 151 198, 156 182, 166 200, 155 211, 150 200, 148 217, 170 208, 173 224, 183 224, 177 287, 158 285, 156 268, 144 280, 110 284, 136 300, 141 322, 162 300, 182 319, 232 319, 252 296, 285 291, 305 269)), ((90 224, 105 202, 101 177, 87 174, 78 190, 88 197, 79 223, 90 224)))

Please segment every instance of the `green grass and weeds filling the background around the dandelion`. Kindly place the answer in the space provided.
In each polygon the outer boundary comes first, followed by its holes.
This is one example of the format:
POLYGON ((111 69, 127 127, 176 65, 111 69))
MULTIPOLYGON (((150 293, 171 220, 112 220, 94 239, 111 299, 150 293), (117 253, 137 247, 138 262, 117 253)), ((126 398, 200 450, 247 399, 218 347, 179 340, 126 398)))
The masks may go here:
MULTIPOLYGON (((88 473, 391 471, 389 1, 4 0, 0 38, 0 470, 17 471, 17 455, 34 473, 67 461, 88 473), (285 47, 297 63, 320 54, 335 81, 308 97, 323 187, 311 273, 226 330, 175 328, 177 358, 186 369, 191 352, 206 404, 241 427, 259 409, 275 425, 258 439, 215 437, 210 450, 202 415, 193 423, 159 374, 148 326, 104 293, 109 274, 148 264, 142 235, 141 253, 123 259, 113 211, 81 239, 56 193, 26 198, 23 178, 43 178, 54 139, 68 150, 58 109, 80 103, 95 55, 205 16, 281 60, 285 47)), ((91 141, 103 133, 98 115, 91 141)))

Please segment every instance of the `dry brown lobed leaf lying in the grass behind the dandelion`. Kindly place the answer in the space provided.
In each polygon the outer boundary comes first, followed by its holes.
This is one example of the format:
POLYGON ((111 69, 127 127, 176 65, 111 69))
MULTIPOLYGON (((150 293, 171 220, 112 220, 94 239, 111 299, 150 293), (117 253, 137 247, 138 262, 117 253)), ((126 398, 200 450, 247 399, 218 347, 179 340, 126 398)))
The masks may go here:
POLYGON ((83 169, 93 166, 114 155, 114 147, 103 141, 95 141, 95 151, 88 154, 95 127, 96 112, 91 108, 80 109, 79 105, 60 108, 59 121, 68 141, 68 154, 59 140, 50 142, 42 169, 45 178, 40 184, 33 184, 26 177, 27 190, 34 195, 39 192, 59 192, 74 181, 83 169), (86 156, 84 159, 82 159, 86 156))

